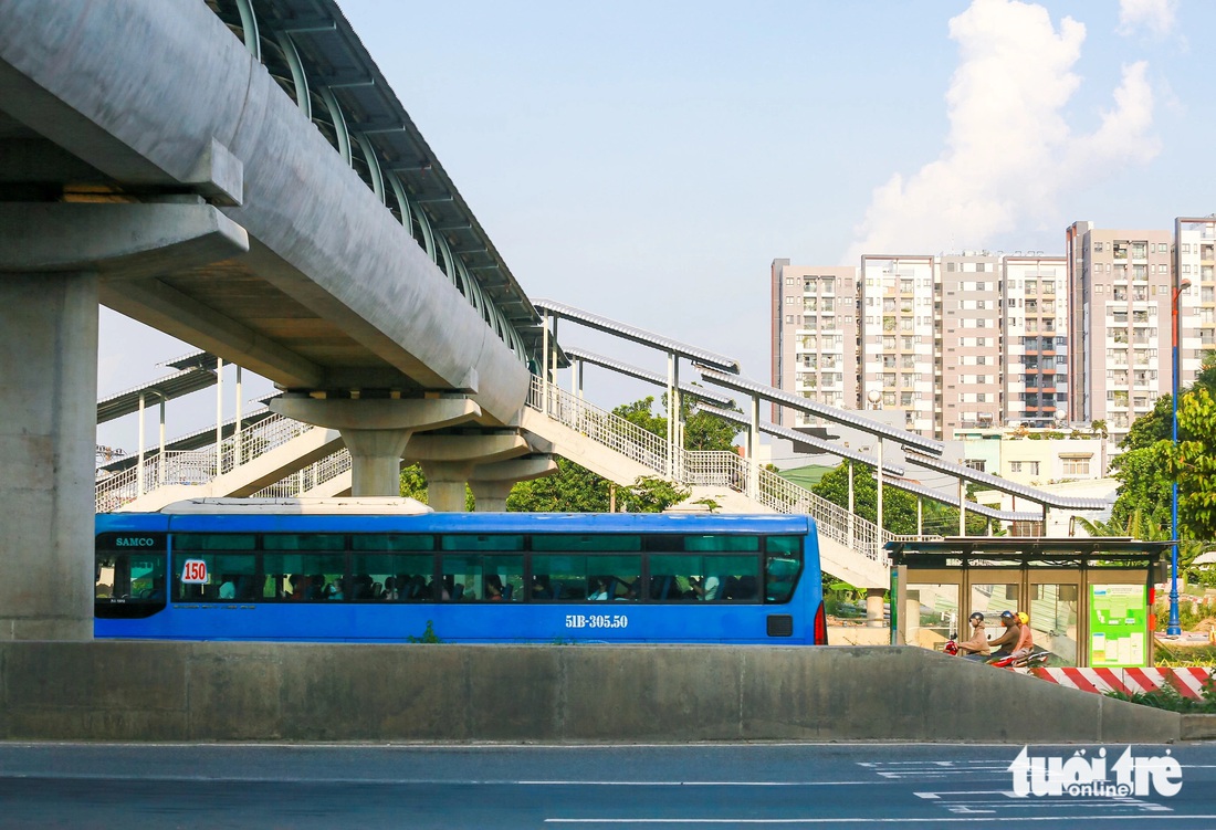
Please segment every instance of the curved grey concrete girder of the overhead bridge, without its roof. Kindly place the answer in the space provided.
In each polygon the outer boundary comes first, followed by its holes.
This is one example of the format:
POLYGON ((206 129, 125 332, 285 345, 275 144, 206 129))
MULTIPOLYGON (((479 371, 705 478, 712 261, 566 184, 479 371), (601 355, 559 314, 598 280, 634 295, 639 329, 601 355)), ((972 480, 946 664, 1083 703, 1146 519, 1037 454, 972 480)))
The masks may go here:
POLYGON ((204 4, 6 2, 0 89, 0 140, 26 156, 61 147, 140 198, 206 196, 249 235, 238 260, 103 286, 107 305, 285 388, 465 391, 490 423, 523 403, 522 361, 204 4), (229 280, 257 297, 209 297, 229 280))

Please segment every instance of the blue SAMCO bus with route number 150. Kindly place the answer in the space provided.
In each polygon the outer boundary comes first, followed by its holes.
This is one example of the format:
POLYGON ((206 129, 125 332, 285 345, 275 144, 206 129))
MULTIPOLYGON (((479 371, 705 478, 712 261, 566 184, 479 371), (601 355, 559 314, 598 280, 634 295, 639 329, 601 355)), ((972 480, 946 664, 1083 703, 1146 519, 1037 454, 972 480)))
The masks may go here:
POLYGON ((827 643, 804 515, 196 499, 96 531, 98 638, 827 643))

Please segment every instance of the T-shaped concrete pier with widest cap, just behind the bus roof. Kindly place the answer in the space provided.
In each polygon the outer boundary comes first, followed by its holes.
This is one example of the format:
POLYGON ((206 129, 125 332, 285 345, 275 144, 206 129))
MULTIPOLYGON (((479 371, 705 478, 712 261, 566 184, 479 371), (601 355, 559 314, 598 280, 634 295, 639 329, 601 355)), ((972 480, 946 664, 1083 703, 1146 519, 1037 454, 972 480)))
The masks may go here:
POLYGON ((401 457, 418 430, 480 417, 467 397, 332 399, 287 394, 270 408, 305 424, 337 429, 350 451, 351 496, 399 496, 401 457))

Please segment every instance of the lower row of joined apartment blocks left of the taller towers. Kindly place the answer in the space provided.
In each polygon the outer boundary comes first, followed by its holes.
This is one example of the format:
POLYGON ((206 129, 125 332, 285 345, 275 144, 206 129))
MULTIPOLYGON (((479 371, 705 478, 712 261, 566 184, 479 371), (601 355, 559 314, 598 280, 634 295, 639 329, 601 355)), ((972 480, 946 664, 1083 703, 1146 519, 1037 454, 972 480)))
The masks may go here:
MULTIPOLYGON (((1010 422, 1053 422, 1054 361, 1065 354, 1065 338, 1055 329, 1068 316, 1053 298, 1059 292, 1064 299, 1063 270, 1059 258, 989 253, 865 255, 860 271, 776 260, 772 383, 846 408, 902 411, 907 429, 935 437, 1010 422), (1049 284, 1040 288, 1048 276, 1049 284), (810 314, 823 307, 815 305, 816 277, 835 287, 838 327, 818 333, 810 314), (843 294, 854 284, 850 300, 843 294), (1007 286, 1014 288, 1008 298, 1007 286), (841 311, 846 304, 856 317, 841 311), (1006 349, 1007 311, 1017 332, 1012 350, 1006 349), (828 376, 831 385, 815 374, 824 365, 841 367, 828 376)), ((775 407, 773 418, 779 417, 775 407)), ((809 423, 803 418, 792 425, 809 423)))

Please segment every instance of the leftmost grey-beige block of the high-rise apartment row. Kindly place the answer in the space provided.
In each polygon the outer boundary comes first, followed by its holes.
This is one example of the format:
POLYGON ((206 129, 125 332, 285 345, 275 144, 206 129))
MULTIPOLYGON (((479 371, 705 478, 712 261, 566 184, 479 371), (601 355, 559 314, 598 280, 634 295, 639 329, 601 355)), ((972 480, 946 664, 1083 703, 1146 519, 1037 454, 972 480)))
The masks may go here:
MULTIPOLYGON (((809 400, 857 407, 857 270, 772 262, 772 384, 809 400)), ((786 427, 773 406, 772 419, 786 427)))

